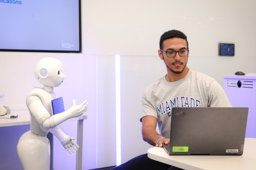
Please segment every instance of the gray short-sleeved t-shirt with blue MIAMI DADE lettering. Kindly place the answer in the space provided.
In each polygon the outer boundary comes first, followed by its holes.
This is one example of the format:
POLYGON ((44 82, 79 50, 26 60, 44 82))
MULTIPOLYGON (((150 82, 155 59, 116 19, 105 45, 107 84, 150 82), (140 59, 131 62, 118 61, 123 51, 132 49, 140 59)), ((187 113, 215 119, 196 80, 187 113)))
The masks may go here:
POLYGON ((189 69, 179 81, 167 82, 165 76, 145 87, 142 113, 154 116, 160 135, 170 138, 172 107, 232 107, 221 85, 215 79, 189 69))

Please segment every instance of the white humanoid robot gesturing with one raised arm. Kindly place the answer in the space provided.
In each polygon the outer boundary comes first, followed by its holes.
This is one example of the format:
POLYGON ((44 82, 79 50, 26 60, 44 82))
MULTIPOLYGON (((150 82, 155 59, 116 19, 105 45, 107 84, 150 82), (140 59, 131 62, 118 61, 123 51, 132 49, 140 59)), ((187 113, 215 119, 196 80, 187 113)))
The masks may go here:
POLYGON ((88 108, 85 100, 81 105, 73 105, 67 111, 52 115, 52 99, 57 96, 53 88, 63 82, 64 68, 55 58, 43 58, 34 68, 35 78, 44 88, 35 87, 26 97, 26 105, 30 113, 30 130, 24 133, 17 144, 17 153, 24 170, 49 170, 50 144, 47 133, 56 136, 69 153, 75 152, 79 146, 74 138, 64 134, 58 127, 67 119, 79 117, 88 108))

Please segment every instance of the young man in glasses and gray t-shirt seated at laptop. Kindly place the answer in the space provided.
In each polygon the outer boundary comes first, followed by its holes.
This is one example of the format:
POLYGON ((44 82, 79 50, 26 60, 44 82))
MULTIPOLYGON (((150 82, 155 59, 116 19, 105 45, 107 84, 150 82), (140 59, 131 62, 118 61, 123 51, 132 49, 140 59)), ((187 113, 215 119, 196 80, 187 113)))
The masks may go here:
MULTIPOLYGON (((166 65, 167 74, 145 88, 140 121, 143 140, 153 146, 162 147, 163 144, 170 142, 172 107, 232 107, 232 105, 215 79, 190 70, 186 66, 189 47, 185 34, 177 30, 165 32, 160 38, 158 55, 166 65), (156 131, 157 124, 160 134, 156 131)), ((131 168, 180 169, 151 160, 147 154, 137 156, 115 169, 131 168)))

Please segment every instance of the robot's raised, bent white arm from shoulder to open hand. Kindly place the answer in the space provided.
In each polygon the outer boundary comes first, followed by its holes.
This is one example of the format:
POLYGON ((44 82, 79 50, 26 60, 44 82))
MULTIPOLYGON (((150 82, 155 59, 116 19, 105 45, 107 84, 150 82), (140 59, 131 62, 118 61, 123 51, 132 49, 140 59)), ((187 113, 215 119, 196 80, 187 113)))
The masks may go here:
POLYGON ((80 105, 76 105, 75 100, 73 99, 73 106, 70 109, 50 116, 38 96, 30 96, 26 102, 29 110, 38 123, 47 129, 56 127, 67 119, 81 116, 88 108, 87 100, 82 102, 80 105))

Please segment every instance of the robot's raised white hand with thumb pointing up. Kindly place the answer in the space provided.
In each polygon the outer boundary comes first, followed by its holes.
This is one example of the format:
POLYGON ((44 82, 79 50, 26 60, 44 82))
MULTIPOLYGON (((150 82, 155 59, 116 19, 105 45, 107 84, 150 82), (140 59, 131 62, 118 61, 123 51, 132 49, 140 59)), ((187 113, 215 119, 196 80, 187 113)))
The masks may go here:
POLYGON ((81 116, 84 112, 87 111, 87 108, 88 108, 87 100, 82 102, 80 105, 76 105, 76 101, 75 99, 73 99, 72 107, 67 110, 68 119, 81 116))

